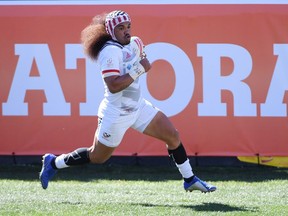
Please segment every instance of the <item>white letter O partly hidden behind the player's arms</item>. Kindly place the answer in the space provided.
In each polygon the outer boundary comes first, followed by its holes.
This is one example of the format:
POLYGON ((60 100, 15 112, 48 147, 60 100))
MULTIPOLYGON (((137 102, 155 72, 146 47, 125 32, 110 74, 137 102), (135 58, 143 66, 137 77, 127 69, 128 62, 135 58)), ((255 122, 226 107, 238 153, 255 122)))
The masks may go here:
MULTIPOLYGON (((169 43, 153 43, 147 45, 145 49, 151 63, 162 59, 172 65, 176 83, 172 95, 166 100, 159 101, 149 93, 147 79, 141 77, 143 96, 162 109, 167 116, 180 113, 189 104, 194 91, 194 70, 189 57, 179 47, 169 43)), ((159 73, 163 73, 165 77, 165 71, 159 71, 159 73)))

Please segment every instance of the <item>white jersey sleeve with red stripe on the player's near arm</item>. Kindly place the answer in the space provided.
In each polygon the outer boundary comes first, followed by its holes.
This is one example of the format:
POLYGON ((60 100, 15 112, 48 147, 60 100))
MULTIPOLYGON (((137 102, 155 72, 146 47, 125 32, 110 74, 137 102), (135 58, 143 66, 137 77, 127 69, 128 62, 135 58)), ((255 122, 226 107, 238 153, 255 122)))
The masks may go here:
POLYGON ((99 56, 102 77, 119 76, 121 70, 122 51, 115 46, 105 47, 99 56))

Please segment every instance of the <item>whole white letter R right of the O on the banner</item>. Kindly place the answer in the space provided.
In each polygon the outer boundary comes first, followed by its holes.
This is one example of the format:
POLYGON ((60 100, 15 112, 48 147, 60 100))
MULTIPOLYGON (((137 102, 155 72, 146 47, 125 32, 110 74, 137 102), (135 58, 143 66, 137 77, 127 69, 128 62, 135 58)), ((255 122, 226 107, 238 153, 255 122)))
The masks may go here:
POLYGON ((256 116, 251 90, 243 82, 252 69, 249 52, 233 44, 198 44, 197 50, 203 58, 203 103, 198 104, 199 116, 227 116, 226 104, 221 103, 221 90, 233 94, 235 116, 256 116), (229 76, 221 76, 221 57, 233 60, 234 70, 229 76))

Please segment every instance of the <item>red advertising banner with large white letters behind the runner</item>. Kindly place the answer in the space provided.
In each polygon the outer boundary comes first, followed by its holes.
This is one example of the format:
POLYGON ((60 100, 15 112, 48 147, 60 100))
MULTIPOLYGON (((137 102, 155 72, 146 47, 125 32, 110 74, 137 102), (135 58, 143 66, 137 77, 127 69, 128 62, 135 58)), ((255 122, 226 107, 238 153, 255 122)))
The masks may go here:
MULTIPOLYGON (((143 94, 189 155, 288 155, 288 5, 1 5, 0 155, 92 145, 103 97, 80 33, 115 9, 132 17, 152 70, 143 94)), ((167 155, 129 130, 114 155, 167 155)))

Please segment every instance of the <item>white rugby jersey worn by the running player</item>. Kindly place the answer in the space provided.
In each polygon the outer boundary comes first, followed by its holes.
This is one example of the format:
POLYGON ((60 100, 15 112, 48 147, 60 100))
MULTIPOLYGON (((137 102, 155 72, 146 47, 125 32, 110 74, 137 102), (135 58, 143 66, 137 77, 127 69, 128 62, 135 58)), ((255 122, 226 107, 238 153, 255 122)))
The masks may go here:
POLYGON ((117 93, 111 93, 104 81, 105 77, 125 74, 123 63, 125 60, 131 59, 130 54, 133 55, 129 45, 123 47, 113 41, 108 41, 99 53, 98 63, 100 64, 105 88, 104 99, 99 109, 100 115, 103 114, 102 112, 106 108, 109 108, 111 112, 120 112, 121 115, 127 115, 139 108, 142 96, 138 79, 131 83, 129 87, 117 93))

